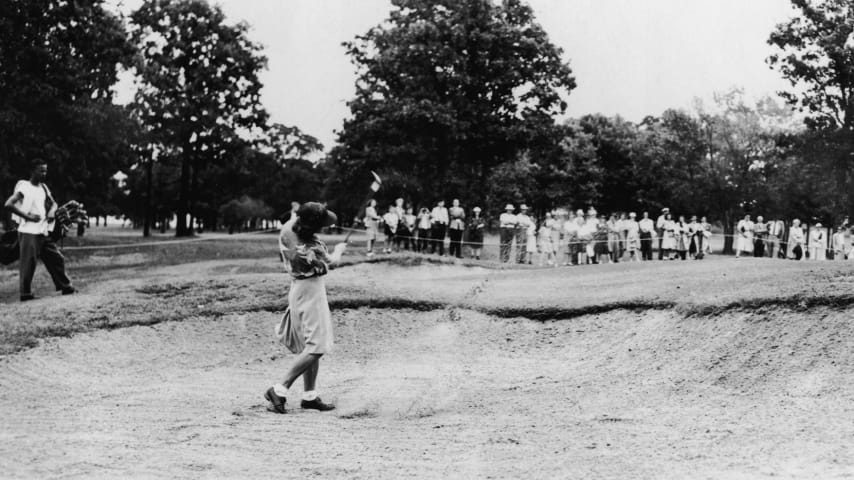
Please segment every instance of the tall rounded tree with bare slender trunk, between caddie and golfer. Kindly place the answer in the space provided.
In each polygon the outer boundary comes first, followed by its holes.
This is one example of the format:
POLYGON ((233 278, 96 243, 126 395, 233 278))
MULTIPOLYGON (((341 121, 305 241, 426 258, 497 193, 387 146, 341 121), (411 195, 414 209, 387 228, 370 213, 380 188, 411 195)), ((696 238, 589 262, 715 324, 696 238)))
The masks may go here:
POLYGON ((131 18, 142 56, 134 108, 160 143, 180 152, 176 235, 189 235, 202 171, 266 121, 258 80, 266 59, 246 24, 228 25, 203 0, 146 0, 131 18))

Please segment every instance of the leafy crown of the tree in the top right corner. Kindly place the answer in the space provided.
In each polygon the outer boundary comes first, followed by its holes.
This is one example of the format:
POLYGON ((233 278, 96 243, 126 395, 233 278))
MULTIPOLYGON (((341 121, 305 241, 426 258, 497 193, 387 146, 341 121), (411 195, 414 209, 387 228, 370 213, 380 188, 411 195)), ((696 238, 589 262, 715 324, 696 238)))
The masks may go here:
POLYGON ((780 52, 768 63, 796 91, 786 101, 808 112, 811 128, 854 129, 854 3, 792 0, 798 15, 777 25, 768 43, 780 52))

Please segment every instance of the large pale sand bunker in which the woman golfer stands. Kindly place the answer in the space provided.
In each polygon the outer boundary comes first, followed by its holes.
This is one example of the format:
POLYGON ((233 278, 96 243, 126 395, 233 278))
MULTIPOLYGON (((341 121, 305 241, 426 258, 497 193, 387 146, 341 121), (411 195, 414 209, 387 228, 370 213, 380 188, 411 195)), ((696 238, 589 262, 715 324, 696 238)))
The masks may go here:
POLYGON ((0 360, 0 468, 13 478, 844 476, 852 313, 539 322, 339 310, 320 373, 339 408, 293 409, 297 384, 286 416, 261 397, 291 358, 272 339, 274 312, 50 339, 0 360))

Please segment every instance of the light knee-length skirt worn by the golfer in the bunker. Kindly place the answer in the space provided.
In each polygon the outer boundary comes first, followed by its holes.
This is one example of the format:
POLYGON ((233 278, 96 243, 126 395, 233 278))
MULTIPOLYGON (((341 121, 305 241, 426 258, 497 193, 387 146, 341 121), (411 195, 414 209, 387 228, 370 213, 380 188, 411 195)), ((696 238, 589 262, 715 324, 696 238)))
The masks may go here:
POLYGON ((291 282, 288 309, 276 325, 276 336, 293 353, 328 353, 332 349, 332 312, 322 276, 291 282))

